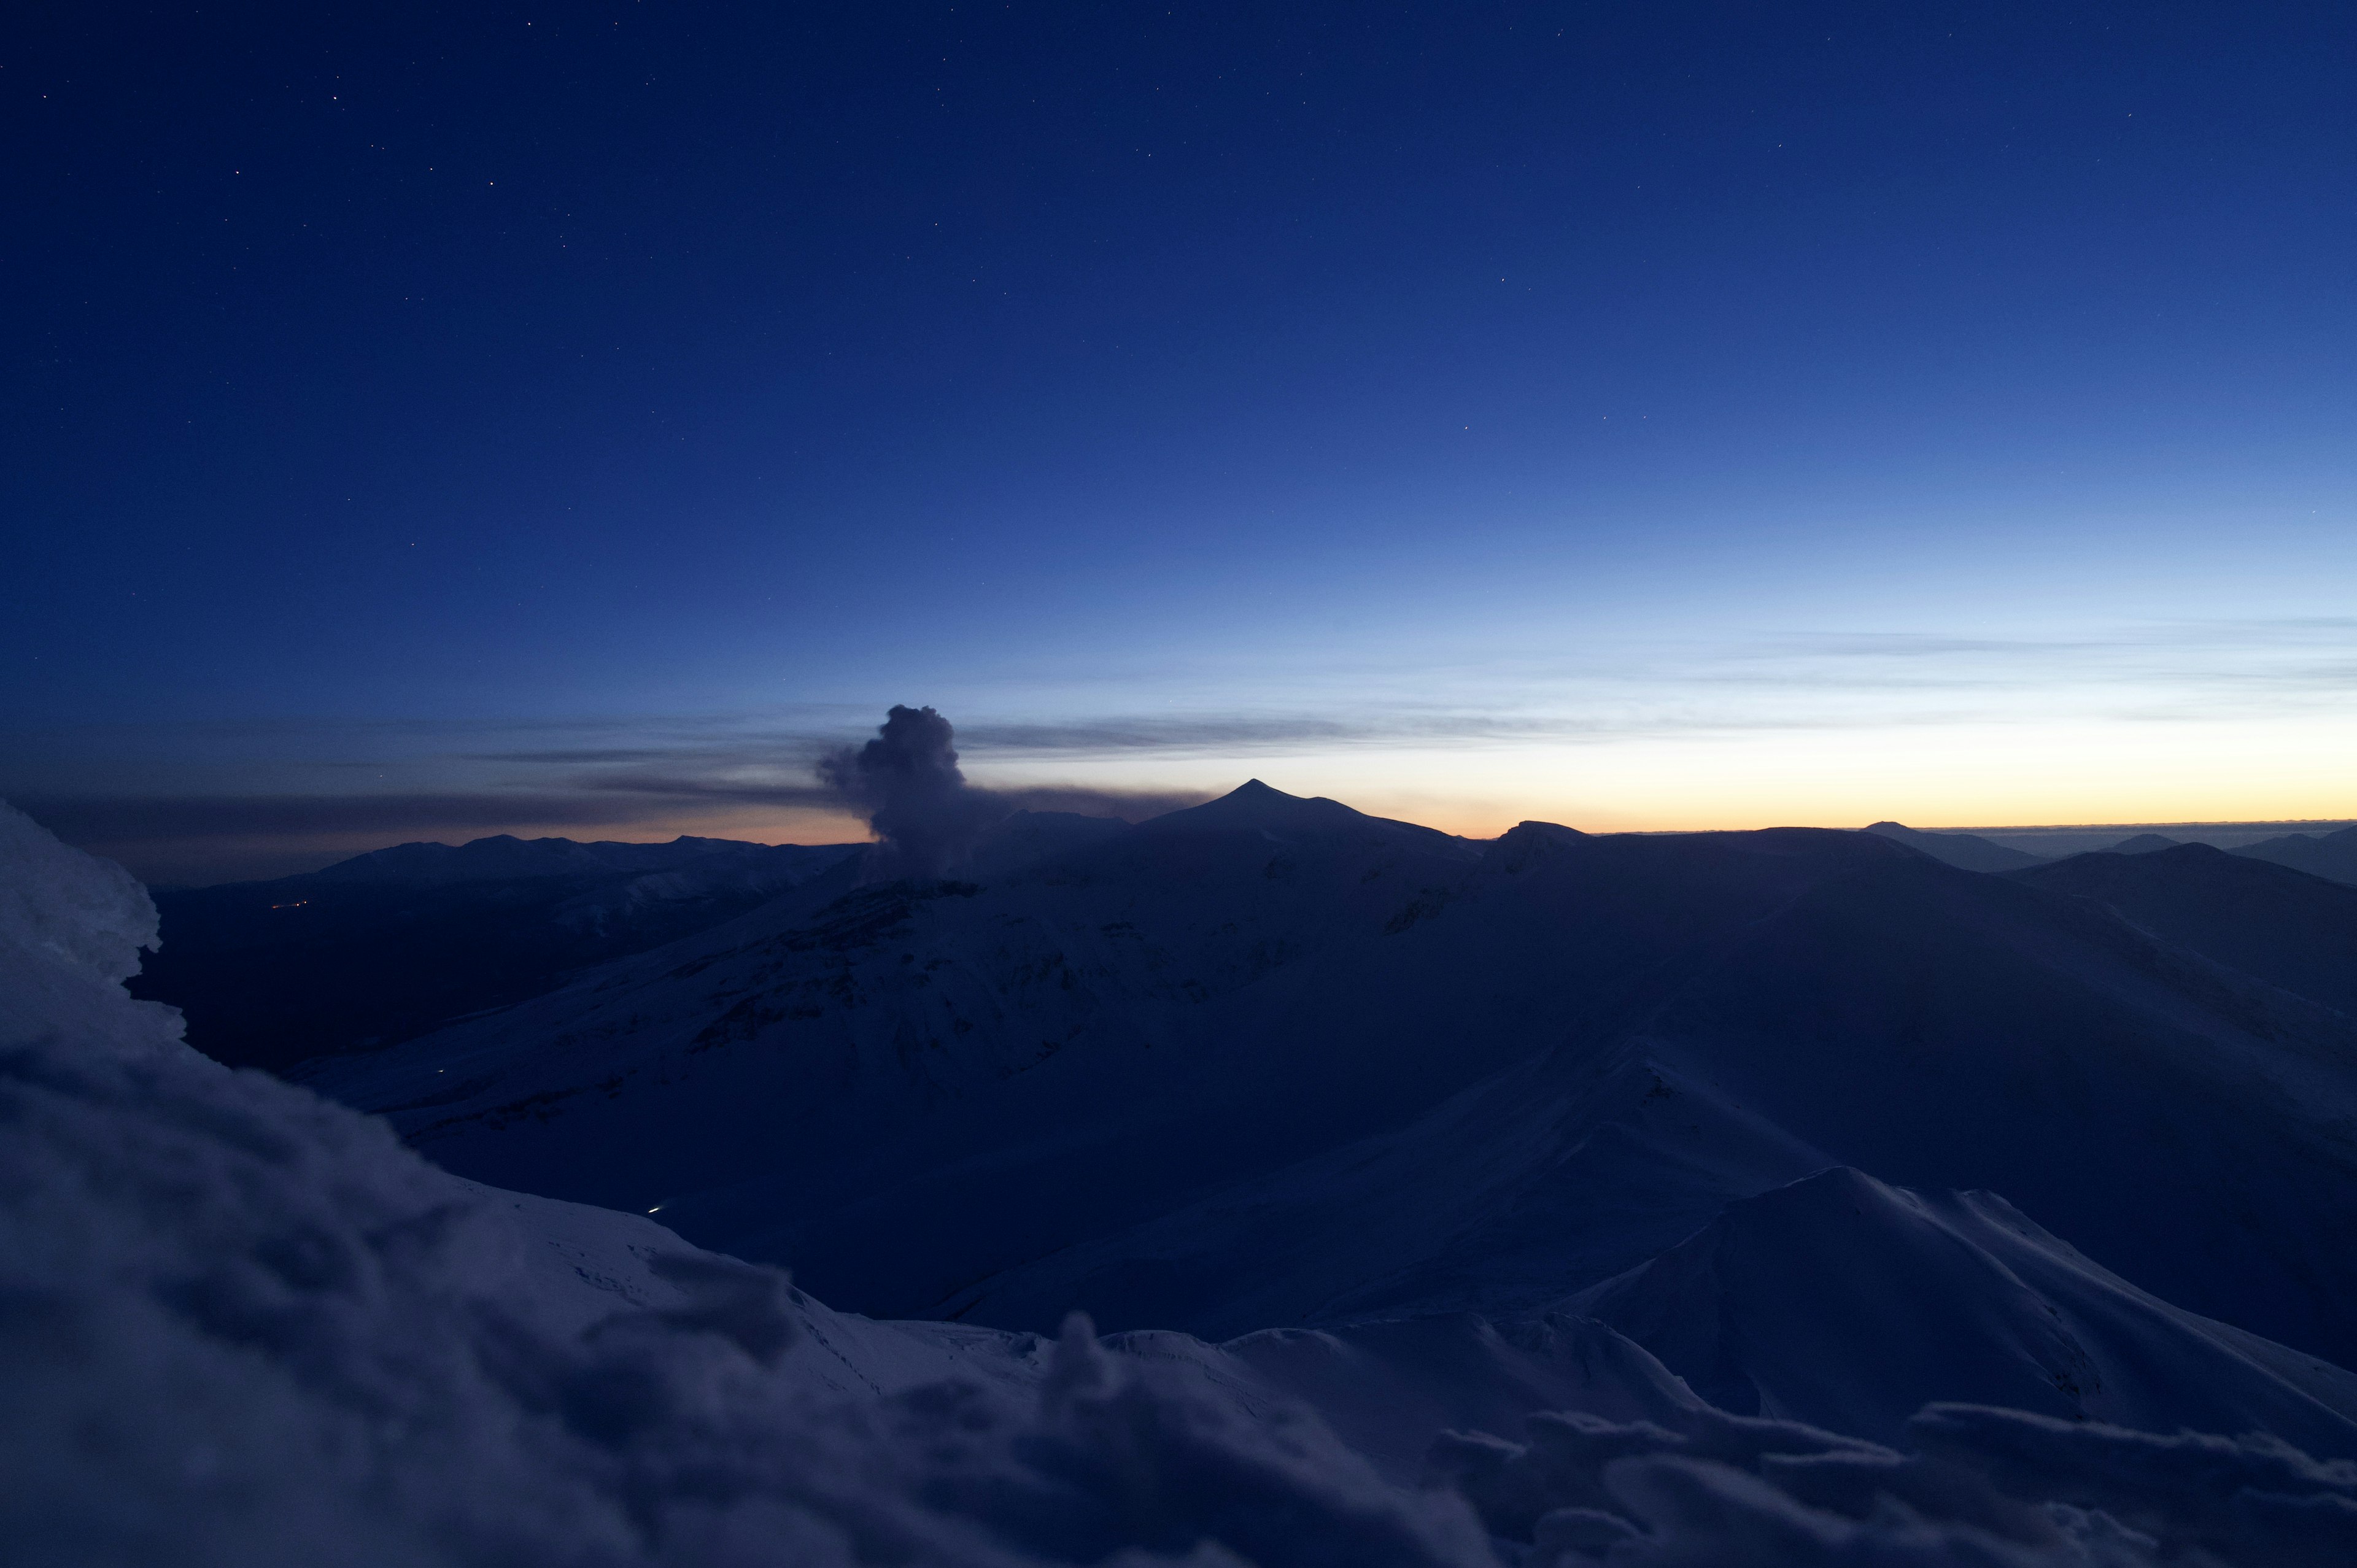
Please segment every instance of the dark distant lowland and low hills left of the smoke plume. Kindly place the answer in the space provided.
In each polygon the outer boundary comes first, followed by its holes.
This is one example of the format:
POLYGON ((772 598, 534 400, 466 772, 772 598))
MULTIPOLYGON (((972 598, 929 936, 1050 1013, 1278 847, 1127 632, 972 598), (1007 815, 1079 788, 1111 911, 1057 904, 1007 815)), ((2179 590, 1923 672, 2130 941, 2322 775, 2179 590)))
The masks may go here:
POLYGON ((681 837, 398 844, 302 877, 158 891, 139 997, 229 1066, 389 1045, 540 995, 585 964, 702 931, 858 846, 681 837))

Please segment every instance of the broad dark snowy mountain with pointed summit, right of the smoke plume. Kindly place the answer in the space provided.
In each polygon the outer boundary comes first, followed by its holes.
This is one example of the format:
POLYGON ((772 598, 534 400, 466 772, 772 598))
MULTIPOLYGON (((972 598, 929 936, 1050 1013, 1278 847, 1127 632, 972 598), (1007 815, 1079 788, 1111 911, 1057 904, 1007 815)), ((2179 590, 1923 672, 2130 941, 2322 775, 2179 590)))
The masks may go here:
POLYGON ((313 1082, 891 1316, 1527 1311, 1855 1165, 2357 1358, 2357 1257, 2315 1245, 2357 1212, 2329 896, 2246 971, 2192 917, 1888 835, 1471 844, 1263 785, 1009 832, 973 879, 841 865, 313 1082))

